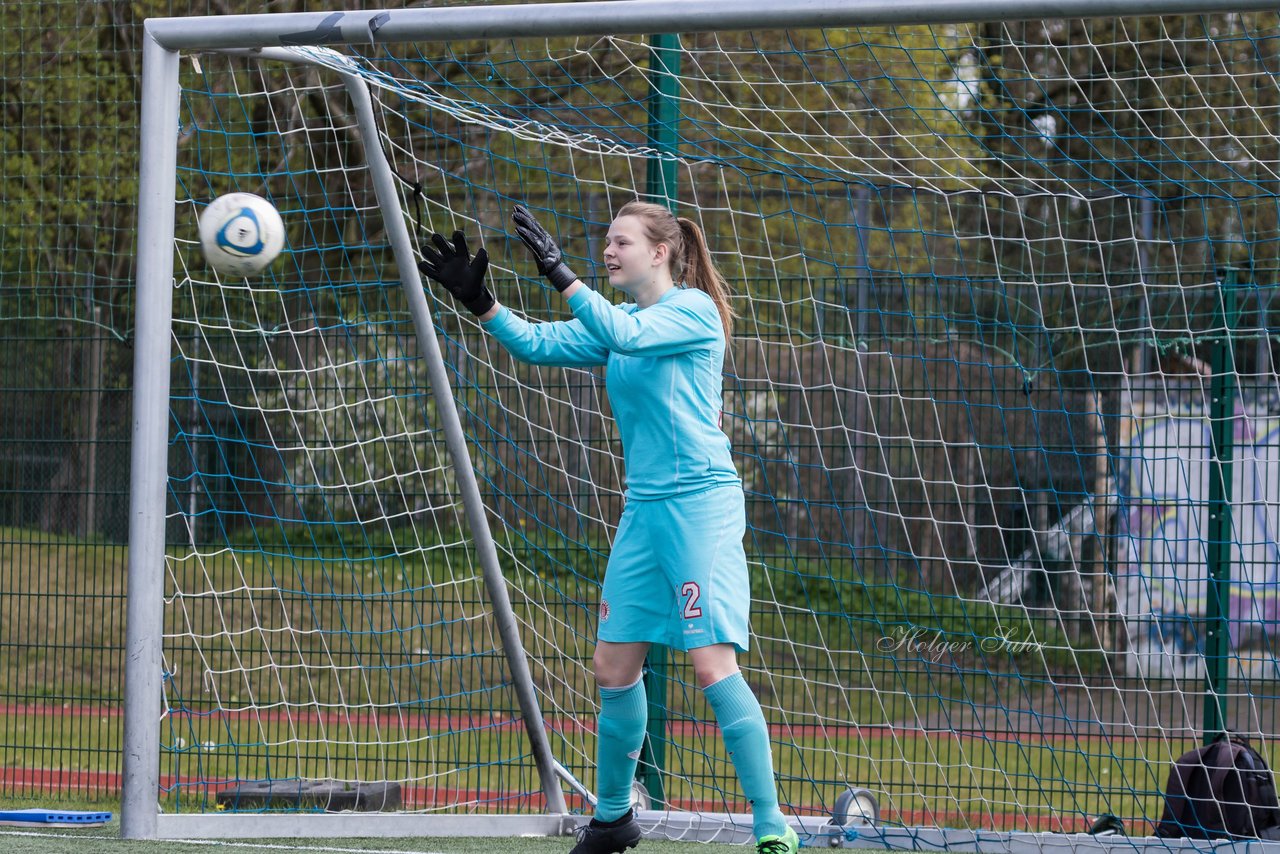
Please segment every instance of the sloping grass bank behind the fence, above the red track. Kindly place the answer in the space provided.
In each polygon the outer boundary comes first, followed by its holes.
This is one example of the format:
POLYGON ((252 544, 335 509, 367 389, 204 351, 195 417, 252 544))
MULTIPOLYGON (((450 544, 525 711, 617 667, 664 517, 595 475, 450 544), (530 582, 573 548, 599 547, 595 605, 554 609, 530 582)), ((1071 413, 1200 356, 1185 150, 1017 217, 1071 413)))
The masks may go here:
MULTIPOLYGON (((307 695, 358 703, 369 662, 378 663, 385 690, 397 698, 421 698, 424 685, 504 682, 506 662, 465 538, 436 531, 429 542, 413 540, 428 551, 406 552, 394 533, 357 544, 315 542, 298 531, 280 536, 242 543, 243 551, 169 549, 170 699, 198 703, 215 694, 236 705, 251 693, 260 704, 307 695), (261 630, 242 631, 250 626, 261 630), (269 644, 285 629, 298 631, 285 644, 269 644), (198 647, 192 632, 205 635, 198 647), (333 666, 317 667, 317 659, 333 666)), ((582 699, 594 695, 585 662, 599 595, 593 574, 598 549, 575 551, 559 539, 534 549, 518 533, 508 540, 520 561, 506 556, 504 571, 530 657, 550 667, 575 662, 575 672, 548 675, 540 689, 549 707, 586 711, 582 699)), ((22 639, 0 643, 0 697, 118 700, 127 551, 19 529, 0 529, 0 577, 24 580, 0 597, 0 626, 23 627, 22 639), (56 650, 47 640, 52 638, 56 650)), ((878 639, 913 627, 970 652, 1001 627, 1019 640, 1036 638, 1043 661, 1009 662, 1033 675, 1092 666, 1052 625, 1016 622, 1011 612, 906 586, 868 584, 852 566, 801 562, 755 576, 753 625, 762 643, 745 663, 781 681, 808 681, 796 699, 814 713, 888 723, 877 697, 886 681, 891 691, 908 695, 970 697, 964 671, 975 671, 980 681, 984 662, 960 661, 952 675, 913 659, 910 650, 877 653, 878 639), (877 672, 868 672, 868 659, 877 672), (809 679, 814 673, 819 677, 809 679), (874 690, 856 690, 863 688, 874 690)), ((791 702, 780 697, 774 705, 791 702)))

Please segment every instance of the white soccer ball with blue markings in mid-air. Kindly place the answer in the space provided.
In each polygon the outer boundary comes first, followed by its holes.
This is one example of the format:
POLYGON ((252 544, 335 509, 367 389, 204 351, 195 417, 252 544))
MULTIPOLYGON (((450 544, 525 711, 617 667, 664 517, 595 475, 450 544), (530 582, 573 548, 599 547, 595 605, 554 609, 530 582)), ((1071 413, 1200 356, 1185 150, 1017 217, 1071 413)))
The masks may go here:
POLYGON ((284 248, 284 222, 261 196, 227 193, 200 214, 200 246, 220 274, 253 275, 284 248))

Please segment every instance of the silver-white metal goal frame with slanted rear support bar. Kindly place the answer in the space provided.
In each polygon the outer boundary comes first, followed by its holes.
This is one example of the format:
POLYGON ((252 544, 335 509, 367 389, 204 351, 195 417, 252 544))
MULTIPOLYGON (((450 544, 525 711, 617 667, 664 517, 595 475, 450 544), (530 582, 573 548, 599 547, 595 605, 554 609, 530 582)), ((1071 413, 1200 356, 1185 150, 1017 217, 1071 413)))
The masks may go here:
MULTIPOLYGON (((380 12, 298 13, 160 18, 145 24, 141 181, 134 347, 133 446, 127 606, 124 791, 127 839, 515 836, 564 835, 584 817, 570 814, 563 785, 579 784, 550 754, 529 665, 498 570, 475 472, 415 264, 389 165, 380 154, 367 85, 344 74, 358 117, 369 166, 417 343, 426 361, 439 417, 466 510, 525 726, 549 809, 541 816, 428 814, 157 814, 163 697, 163 590, 165 485, 169 444, 173 320, 177 128, 180 51, 228 51, 271 61, 314 63, 326 45, 451 41, 466 38, 692 33, 731 29, 942 24, 961 22, 1171 15, 1275 9, 1275 0, 628 0, 481 8, 419 8, 380 12), (300 46, 301 45, 301 46, 300 46), (307 46, 310 45, 310 46, 307 46)), ((337 54, 324 63, 332 68, 337 54)), ((340 59, 340 58, 339 58, 340 59)), ((750 821, 722 814, 645 810, 645 832, 684 840, 748 840, 750 821)), ((938 828, 851 830, 818 818, 795 818, 810 845, 963 850, 1071 850, 1126 846, 1194 846, 1181 840, 1084 835, 957 831, 938 828)), ((1253 842, 1257 845, 1258 842, 1253 842)), ((1266 849, 1280 851, 1280 845, 1266 849)))

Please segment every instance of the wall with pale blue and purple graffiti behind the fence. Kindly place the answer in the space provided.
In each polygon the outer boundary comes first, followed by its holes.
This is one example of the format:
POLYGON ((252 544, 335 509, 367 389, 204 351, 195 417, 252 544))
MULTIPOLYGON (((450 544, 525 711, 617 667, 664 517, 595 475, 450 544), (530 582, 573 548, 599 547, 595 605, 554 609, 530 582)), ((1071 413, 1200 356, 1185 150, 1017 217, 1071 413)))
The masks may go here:
MULTIPOLYGON (((1280 676, 1280 417, 1236 412, 1231 476, 1233 670, 1280 676)), ((1121 434, 1116 583, 1133 676, 1201 679, 1207 599, 1210 421, 1137 415, 1121 434)))

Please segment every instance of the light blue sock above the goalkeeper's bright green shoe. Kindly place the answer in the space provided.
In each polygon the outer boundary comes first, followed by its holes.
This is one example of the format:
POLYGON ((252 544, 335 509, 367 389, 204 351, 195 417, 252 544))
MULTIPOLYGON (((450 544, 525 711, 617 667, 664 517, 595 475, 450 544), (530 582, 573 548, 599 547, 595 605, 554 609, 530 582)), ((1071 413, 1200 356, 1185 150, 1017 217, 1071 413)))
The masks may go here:
POLYGON ((773 753, 764 712, 742 673, 733 673, 703 689, 724 735, 724 746, 737 769, 742 794, 751 804, 755 837, 786 832, 787 821, 778 809, 778 789, 773 781, 773 753))

